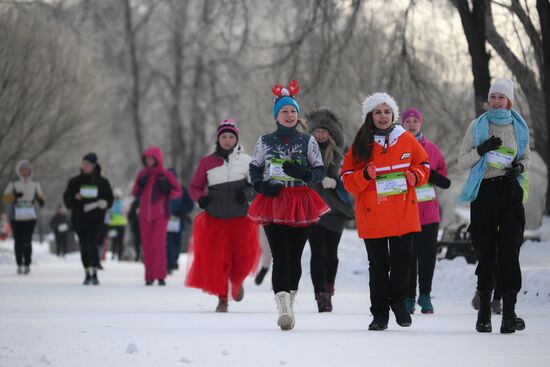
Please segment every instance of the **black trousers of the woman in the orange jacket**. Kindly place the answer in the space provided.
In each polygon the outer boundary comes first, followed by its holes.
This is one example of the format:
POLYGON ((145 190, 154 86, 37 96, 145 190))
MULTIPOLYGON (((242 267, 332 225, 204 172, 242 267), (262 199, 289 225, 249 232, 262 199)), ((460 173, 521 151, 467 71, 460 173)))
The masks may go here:
POLYGON ((414 234, 365 239, 369 257, 371 313, 383 315, 405 300, 409 288, 414 234))

